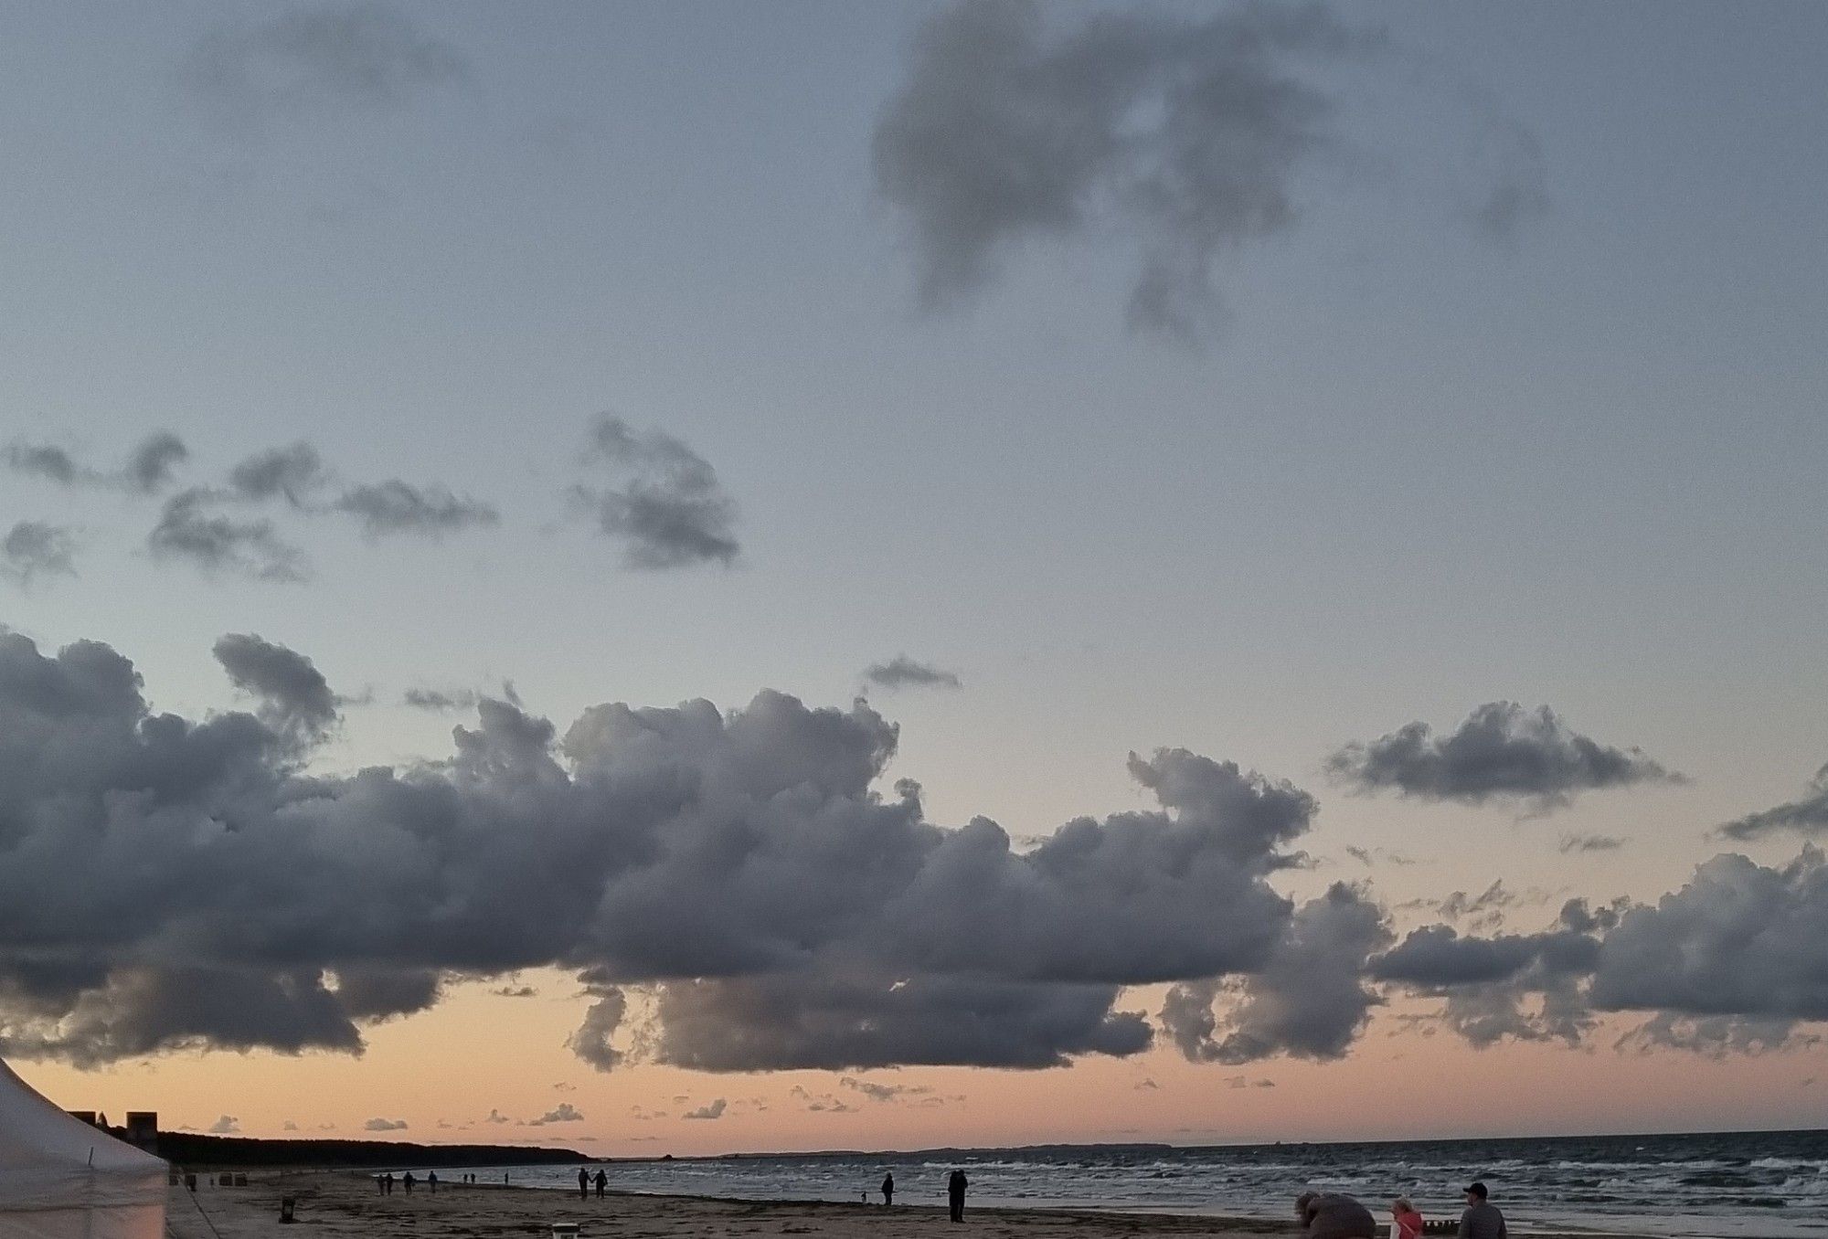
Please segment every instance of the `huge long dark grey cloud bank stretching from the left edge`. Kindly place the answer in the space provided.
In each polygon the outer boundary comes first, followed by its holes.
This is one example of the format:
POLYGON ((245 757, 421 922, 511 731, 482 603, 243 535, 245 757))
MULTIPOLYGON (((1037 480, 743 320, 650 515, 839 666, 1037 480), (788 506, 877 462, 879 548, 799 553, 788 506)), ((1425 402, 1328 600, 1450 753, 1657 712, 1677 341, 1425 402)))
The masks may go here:
POLYGON ((1241 1027, 1283 1036, 1283 969, 1344 934, 1267 883, 1313 799, 1179 749, 1132 757, 1159 810, 1016 852, 876 791, 898 731, 865 704, 598 705, 559 736, 484 700, 446 762, 314 775, 329 685, 221 654, 258 713, 157 715, 106 645, 0 634, 0 1051, 360 1053, 446 976, 569 967, 603 1069, 1046 1067, 1144 1049, 1119 1003, 1153 981, 1263 974, 1241 1027))

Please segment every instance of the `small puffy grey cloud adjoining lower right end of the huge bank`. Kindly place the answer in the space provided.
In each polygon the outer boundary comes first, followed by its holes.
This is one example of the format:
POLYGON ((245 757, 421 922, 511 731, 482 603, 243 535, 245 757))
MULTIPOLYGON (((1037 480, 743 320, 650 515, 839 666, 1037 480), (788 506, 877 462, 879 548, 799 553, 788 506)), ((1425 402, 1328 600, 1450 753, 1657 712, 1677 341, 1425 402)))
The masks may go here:
POLYGON ((1334 883, 1294 914, 1265 967, 1238 985, 1223 1027, 1212 1011, 1217 990, 1210 981, 1174 987, 1163 1027, 1194 1062, 1340 1058, 1380 1001, 1366 987, 1364 970, 1366 959, 1387 943, 1382 908, 1358 888, 1334 883))

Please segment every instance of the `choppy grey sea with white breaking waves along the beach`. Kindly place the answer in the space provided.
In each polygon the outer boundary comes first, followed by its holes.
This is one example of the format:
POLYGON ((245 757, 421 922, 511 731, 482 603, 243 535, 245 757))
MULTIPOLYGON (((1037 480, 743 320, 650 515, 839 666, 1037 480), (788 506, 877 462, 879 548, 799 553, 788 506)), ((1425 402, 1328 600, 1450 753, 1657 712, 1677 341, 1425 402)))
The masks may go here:
MULTIPOLYGON (((812 1153, 612 1160, 616 1191, 740 1201, 943 1204, 971 1179, 972 1206, 1291 1217, 1300 1191, 1345 1191, 1378 1221, 1395 1195, 1457 1217, 1483 1181, 1512 1230, 1603 1230, 1682 1239, 1828 1239, 1828 1131, 1398 1140, 1375 1144, 1088 1144, 921 1153, 812 1153)), ((598 1166, 592 1166, 592 1175, 598 1166)), ((484 1168, 484 1182, 578 1190, 576 1166, 484 1168)), ((452 1171, 441 1177, 450 1179, 452 1171)))

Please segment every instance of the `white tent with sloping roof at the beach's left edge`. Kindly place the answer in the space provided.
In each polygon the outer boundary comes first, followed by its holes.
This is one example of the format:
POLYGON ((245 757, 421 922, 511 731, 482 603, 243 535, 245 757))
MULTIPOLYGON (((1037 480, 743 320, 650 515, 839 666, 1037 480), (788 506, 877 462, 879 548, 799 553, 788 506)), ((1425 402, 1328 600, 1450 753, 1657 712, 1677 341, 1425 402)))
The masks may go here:
POLYGON ((0 1062, 0 1239, 161 1239, 165 1175, 0 1062))

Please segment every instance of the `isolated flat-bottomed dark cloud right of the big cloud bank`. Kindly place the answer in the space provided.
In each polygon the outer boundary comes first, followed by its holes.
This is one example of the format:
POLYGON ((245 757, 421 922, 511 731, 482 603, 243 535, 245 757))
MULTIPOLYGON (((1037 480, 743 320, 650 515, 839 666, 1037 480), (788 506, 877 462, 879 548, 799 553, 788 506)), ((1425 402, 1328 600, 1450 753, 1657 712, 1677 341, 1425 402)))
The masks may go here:
POLYGON ((1519 800, 1537 810, 1563 806, 1581 791, 1682 782, 1642 749, 1600 744, 1546 705, 1526 711, 1515 702, 1481 705, 1446 736, 1413 722, 1367 744, 1347 744, 1327 768, 1362 791, 1464 804, 1519 800))

